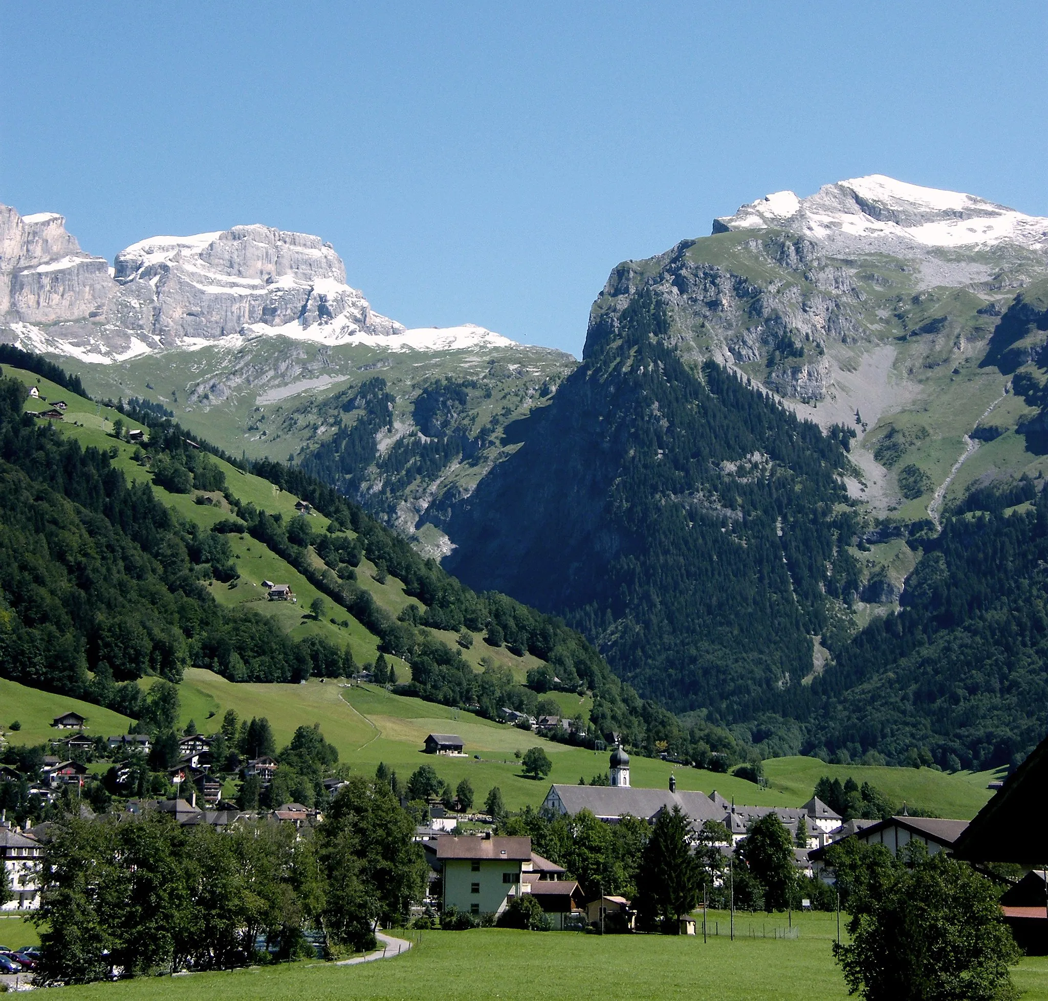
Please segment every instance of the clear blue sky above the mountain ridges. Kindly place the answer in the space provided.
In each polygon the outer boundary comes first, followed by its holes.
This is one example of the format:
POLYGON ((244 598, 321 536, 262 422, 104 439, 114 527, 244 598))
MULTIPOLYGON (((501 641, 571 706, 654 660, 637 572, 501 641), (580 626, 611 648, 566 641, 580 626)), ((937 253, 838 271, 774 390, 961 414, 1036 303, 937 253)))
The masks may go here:
POLYGON ((882 173, 1048 215, 1048 4, 0 0, 0 201, 262 222, 407 324, 578 355, 619 261, 882 173))

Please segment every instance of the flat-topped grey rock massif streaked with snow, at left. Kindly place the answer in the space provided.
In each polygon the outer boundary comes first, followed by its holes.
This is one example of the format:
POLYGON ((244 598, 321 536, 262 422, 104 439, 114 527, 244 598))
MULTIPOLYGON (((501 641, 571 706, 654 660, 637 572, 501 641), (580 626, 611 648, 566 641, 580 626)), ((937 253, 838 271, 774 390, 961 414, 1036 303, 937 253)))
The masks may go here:
POLYGON ((512 343, 474 325, 406 330, 346 284, 342 260, 319 237, 260 225, 152 237, 110 268, 81 250, 62 216, 7 206, 0 321, 25 348, 94 363, 270 335, 398 352, 512 343))

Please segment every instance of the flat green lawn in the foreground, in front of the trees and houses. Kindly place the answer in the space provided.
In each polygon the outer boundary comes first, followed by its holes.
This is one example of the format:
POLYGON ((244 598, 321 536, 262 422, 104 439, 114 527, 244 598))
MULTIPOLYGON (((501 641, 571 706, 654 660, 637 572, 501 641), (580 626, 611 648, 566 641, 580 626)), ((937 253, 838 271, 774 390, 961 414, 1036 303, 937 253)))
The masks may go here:
MULTIPOLYGON (((712 914, 711 919, 719 920, 726 931, 726 914, 712 914)), ((735 941, 721 935, 705 943, 701 934, 692 938, 494 929, 424 932, 421 944, 405 955, 354 966, 296 963, 64 989, 78 998, 172 1001, 200 995, 216 1001, 429 999, 435 993, 456 1001, 614 997, 721 1001, 725 994, 747 1001, 844 1001, 848 992, 831 954, 834 915, 800 915, 794 920, 796 938, 771 937, 772 929, 785 925, 782 914, 739 916, 735 941), (760 937, 762 931, 768 937, 760 937), (750 932, 758 937, 750 937, 750 932)), ((1024 997, 1029 1001, 1048 998, 1044 959, 1024 960, 1013 977, 1028 992, 1024 997)))

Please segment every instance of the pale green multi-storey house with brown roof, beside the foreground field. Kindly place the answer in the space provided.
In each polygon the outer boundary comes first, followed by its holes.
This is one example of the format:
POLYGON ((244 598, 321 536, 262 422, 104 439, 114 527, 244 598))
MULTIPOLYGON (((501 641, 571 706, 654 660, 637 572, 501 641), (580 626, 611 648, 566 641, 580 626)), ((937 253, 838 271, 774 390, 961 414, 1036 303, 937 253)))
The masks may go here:
POLYGON ((531 839, 444 835, 437 839, 436 862, 443 874, 444 910, 501 914, 521 892, 531 839))

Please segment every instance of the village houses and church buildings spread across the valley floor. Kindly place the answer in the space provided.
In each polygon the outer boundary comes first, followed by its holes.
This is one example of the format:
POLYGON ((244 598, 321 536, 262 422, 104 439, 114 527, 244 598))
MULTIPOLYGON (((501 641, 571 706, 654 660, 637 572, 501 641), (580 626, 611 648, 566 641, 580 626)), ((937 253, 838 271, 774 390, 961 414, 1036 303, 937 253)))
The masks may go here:
MULTIPOLYGON (((44 756, 36 776, 4 765, 0 768, 0 779, 29 782, 31 778, 31 796, 43 802, 72 803, 82 820, 91 820, 94 814, 87 800, 81 798, 88 773, 82 763, 85 754, 104 744, 106 753, 125 762, 114 766, 116 781, 121 782, 126 778, 124 773, 149 754, 151 742, 145 734, 115 735, 103 741, 84 733, 85 722, 85 717, 73 711, 56 717, 56 731, 73 731, 52 739, 52 751, 60 753, 44 756)), ((311 837, 324 821, 326 806, 320 802, 311 806, 275 803, 260 809, 243 808, 223 798, 223 783, 212 773, 213 741, 196 733, 178 738, 178 760, 167 773, 177 792, 169 798, 130 797, 119 808, 129 819, 153 815, 181 828, 205 825, 216 831, 234 831, 238 825, 264 822, 288 827, 296 839, 311 837)), ((464 741, 456 734, 431 733, 419 750, 435 761, 468 756, 464 741)), ((243 761, 240 777, 242 781, 256 780, 266 789, 279 770, 272 756, 262 755, 243 761)), ((971 822, 911 817, 904 811, 880 820, 845 820, 815 796, 799 807, 752 806, 728 800, 716 791, 707 795, 678 789, 673 774, 665 788, 636 787, 630 780, 630 757, 617 743, 611 749, 607 775, 608 784, 550 785, 537 816, 547 823, 559 818, 574 821, 589 817, 610 829, 638 822, 654 829, 660 819, 680 818, 689 850, 712 852, 720 859, 721 864, 713 866, 709 890, 726 887, 730 895, 725 906, 733 911, 746 906, 744 900, 736 899, 736 880, 729 878, 733 861, 747 858, 747 839, 769 821, 785 832, 789 864, 796 880, 795 905, 800 909, 818 906, 820 898, 825 902, 827 894, 836 892, 834 859, 842 857, 835 854, 835 849, 845 843, 879 846, 899 860, 909 858, 919 846, 926 855, 943 853, 981 871, 1002 863, 1019 866, 1019 874, 1006 881, 1001 913, 1028 954, 1048 953, 1048 884, 1040 862, 1042 849, 1032 829, 1017 827, 1014 822, 1020 816, 1040 816, 1042 806, 1036 794, 1048 777, 1048 740, 1008 777, 971 822), (1003 838, 1002 831, 1010 835, 1003 838)), ((330 777, 323 784, 329 801, 334 801, 347 780, 330 777)), ((400 805, 414 810, 417 823, 411 840, 421 849, 429 873, 423 895, 405 914, 407 922, 418 927, 428 922, 431 927, 500 926, 524 911, 534 915, 534 924, 524 927, 602 934, 638 929, 636 900, 603 888, 594 893, 592 885, 587 891, 564 865, 540 854, 531 837, 503 832, 515 829, 511 817, 476 813, 462 804, 454 804, 459 808, 452 809, 446 797, 442 802, 437 795, 414 806, 405 797, 400 805)), ((3 913, 31 914, 40 908, 46 891, 43 862, 57 829, 54 822, 26 822, 19 827, 6 816, 0 819, 0 851, 9 888, 3 913)), ((839 893, 836 900, 839 907, 839 893)), ((794 906, 793 898, 788 903, 794 906)), ((701 934, 702 908, 703 900, 699 900, 697 907, 676 915, 675 931, 701 934)), ((8 959, 19 962, 14 954, 8 959)), ((32 955, 23 954, 22 962, 30 969, 32 955)))

